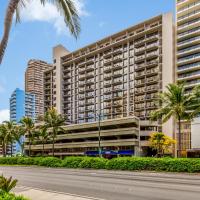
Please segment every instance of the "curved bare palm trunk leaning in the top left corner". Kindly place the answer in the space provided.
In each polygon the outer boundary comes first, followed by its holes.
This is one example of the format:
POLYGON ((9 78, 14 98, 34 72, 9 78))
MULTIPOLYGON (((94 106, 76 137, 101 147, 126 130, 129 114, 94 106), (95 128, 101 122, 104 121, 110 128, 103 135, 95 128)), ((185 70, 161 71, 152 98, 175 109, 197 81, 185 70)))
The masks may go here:
POLYGON ((13 16, 14 16, 14 13, 18 6, 19 1, 20 0, 10 0, 8 3, 8 7, 6 10, 6 15, 5 15, 5 19, 4 19, 3 37, 0 42, 0 64, 2 63, 5 49, 8 44, 8 38, 9 38, 9 34, 10 34, 10 29, 12 26, 13 16))

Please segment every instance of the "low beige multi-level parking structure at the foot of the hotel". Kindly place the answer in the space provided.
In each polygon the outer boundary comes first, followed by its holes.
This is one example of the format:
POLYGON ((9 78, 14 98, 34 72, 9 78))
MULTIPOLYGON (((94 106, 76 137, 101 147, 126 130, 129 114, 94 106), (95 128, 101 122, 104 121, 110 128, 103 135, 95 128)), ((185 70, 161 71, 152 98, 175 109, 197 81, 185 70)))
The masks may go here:
MULTIPOLYGON (((91 122, 62 128, 65 131, 58 134, 55 142, 56 156, 84 155, 87 151, 98 151, 99 135, 102 150, 132 150, 134 155, 139 154, 139 120, 137 118, 103 120, 100 124, 91 122)), ((146 141, 141 142, 141 147, 146 145, 146 141)), ((32 145, 32 155, 41 154, 42 148, 41 144, 32 145)), ((44 148, 45 154, 52 155, 51 141, 47 142, 44 148)), ((28 150, 28 145, 25 149, 28 150)))

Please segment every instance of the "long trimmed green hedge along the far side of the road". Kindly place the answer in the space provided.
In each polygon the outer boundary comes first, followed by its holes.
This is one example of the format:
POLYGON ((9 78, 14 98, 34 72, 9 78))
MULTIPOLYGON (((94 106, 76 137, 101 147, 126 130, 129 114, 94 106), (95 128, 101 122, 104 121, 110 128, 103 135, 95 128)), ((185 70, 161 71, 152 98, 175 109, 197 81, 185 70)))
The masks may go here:
POLYGON ((200 159, 198 158, 121 157, 107 160, 104 158, 92 157, 67 157, 64 160, 61 160, 53 157, 13 157, 0 158, 0 165, 37 165, 45 167, 130 171, 200 172, 200 159))

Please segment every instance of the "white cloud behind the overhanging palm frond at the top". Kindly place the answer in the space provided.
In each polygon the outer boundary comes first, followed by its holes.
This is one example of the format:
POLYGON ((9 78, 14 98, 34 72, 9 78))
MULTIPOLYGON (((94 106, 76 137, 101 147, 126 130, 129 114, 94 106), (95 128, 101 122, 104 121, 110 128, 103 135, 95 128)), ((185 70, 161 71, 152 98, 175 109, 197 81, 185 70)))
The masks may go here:
MULTIPOLYGON (((73 0, 79 16, 88 16, 85 9, 85 0, 73 0)), ((50 2, 42 6, 39 0, 30 1, 21 12, 22 20, 25 22, 41 21, 53 24, 58 34, 68 34, 63 17, 57 8, 50 2)))

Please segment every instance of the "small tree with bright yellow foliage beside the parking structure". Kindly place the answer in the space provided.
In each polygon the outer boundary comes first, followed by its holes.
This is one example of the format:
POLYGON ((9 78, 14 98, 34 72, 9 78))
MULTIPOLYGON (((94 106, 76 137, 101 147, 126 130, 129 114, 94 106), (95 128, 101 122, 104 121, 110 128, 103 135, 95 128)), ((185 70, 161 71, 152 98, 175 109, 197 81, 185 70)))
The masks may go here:
POLYGON ((166 136, 164 133, 152 133, 150 136, 150 146, 157 150, 157 156, 163 156, 164 151, 168 150, 173 144, 176 143, 171 137, 166 136))

